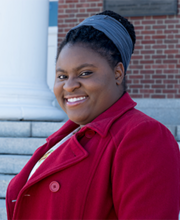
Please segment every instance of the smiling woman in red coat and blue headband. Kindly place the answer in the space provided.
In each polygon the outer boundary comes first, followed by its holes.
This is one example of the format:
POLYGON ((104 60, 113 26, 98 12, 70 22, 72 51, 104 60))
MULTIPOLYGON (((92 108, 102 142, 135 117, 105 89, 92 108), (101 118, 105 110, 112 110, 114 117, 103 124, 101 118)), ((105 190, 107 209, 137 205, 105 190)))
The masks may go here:
POLYGON ((134 44, 132 24, 111 11, 67 34, 54 93, 70 120, 10 182, 9 220, 178 219, 178 145, 126 92, 134 44))

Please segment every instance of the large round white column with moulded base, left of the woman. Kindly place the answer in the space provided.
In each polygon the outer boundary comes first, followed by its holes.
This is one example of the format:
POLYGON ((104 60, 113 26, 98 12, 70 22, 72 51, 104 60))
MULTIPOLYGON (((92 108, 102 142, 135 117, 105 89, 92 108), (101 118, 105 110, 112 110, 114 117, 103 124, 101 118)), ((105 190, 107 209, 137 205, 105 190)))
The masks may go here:
POLYGON ((0 1, 0 120, 62 120, 47 86, 48 0, 0 1))

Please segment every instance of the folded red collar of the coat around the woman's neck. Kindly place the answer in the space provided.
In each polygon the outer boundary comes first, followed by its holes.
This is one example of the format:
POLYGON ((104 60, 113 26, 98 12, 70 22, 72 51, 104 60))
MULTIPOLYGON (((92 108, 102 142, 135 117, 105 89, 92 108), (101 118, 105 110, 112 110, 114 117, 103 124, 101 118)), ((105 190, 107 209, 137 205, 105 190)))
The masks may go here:
MULTIPOLYGON (((136 102, 134 102, 130 95, 126 92, 121 96, 121 98, 115 102, 110 108, 100 114, 97 118, 95 118, 92 122, 85 125, 81 131, 83 132, 85 129, 89 128, 96 131, 102 137, 105 137, 110 129, 110 126, 117 118, 122 116, 128 110, 134 108, 136 106, 136 102)), ((76 129, 79 125, 75 124, 71 120, 68 120, 63 127, 61 127, 57 132, 52 134, 47 138, 47 141, 57 137, 63 136, 65 137, 67 134, 76 129)))

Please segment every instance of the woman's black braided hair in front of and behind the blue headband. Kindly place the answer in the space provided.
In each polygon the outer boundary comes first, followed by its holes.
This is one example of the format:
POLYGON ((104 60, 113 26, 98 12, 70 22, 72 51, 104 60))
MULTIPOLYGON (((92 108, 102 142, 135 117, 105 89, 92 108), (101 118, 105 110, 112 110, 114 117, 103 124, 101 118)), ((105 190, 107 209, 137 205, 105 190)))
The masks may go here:
MULTIPOLYGON (((109 10, 98 13, 96 15, 108 15, 119 21, 128 31, 133 42, 133 51, 134 51, 134 45, 136 42, 134 26, 126 18, 109 10)), ((93 49, 108 61, 112 69, 114 69, 114 67, 119 62, 122 62, 121 54, 117 49, 116 45, 103 32, 94 29, 92 26, 81 26, 78 27, 77 29, 71 30, 66 35, 65 39, 62 41, 62 43, 58 48, 56 61, 59 57, 61 50, 68 43, 70 43, 71 45, 80 43, 82 45, 85 45, 86 47, 93 49)), ((123 80, 123 87, 125 91, 126 90, 125 77, 123 80)))

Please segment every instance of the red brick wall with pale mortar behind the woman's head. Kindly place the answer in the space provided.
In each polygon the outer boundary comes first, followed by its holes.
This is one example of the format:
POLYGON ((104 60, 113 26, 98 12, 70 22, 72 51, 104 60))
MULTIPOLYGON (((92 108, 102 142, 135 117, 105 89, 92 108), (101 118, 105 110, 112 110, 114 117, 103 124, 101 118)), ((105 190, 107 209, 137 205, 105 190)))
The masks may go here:
MULTIPOLYGON (((59 0, 58 44, 84 18, 103 10, 103 0, 59 0)), ((133 98, 180 98, 180 0, 178 15, 128 18, 136 47, 127 71, 133 98)))

